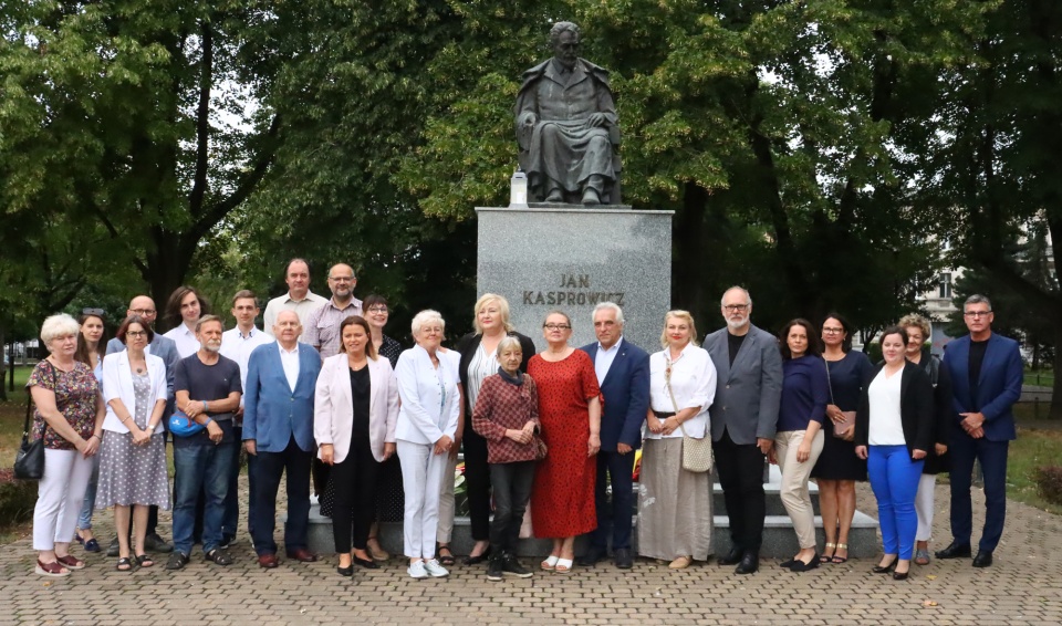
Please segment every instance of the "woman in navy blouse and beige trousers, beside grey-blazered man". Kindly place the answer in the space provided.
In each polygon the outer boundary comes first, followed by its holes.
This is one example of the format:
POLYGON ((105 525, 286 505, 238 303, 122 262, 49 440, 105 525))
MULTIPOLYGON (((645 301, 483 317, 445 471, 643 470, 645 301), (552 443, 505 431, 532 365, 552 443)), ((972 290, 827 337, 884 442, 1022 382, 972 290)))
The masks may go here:
POLYGON ((808 479, 822 453, 822 421, 830 393, 826 364, 819 349, 814 327, 806 320, 793 320, 779 333, 782 352, 782 401, 771 462, 782 470, 782 504, 793 521, 800 552, 782 563, 793 572, 819 566, 815 549, 815 512, 808 492, 808 479))

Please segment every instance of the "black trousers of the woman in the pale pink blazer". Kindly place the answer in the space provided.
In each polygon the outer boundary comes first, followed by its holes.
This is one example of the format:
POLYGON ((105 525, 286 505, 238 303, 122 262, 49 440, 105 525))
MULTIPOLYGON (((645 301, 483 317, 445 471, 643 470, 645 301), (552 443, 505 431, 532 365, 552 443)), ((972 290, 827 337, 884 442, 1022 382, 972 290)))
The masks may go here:
POLYGON ((376 517, 376 478, 379 473, 379 463, 373 457, 368 437, 352 437, 351 451, 342 463, 335 463, 331 470, 335 488, 335 505, 332 509, 335 551, 350 552, 352 545, 365 550, 368 529, 376 517))

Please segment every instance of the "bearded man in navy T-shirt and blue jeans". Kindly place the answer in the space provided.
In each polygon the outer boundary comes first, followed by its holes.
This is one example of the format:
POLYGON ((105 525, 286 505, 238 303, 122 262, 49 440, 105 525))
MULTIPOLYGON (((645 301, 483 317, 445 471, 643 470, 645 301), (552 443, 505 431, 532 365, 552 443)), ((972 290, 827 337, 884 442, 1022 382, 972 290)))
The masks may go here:
POLYGON ((174 392, 177 408, 190 420, 205 426, 187 437, 174 437, 174 553, 168 570, 180 570, 192 545, 196 498, 206 492, 202 551, 218 565, 232 564, 220 547, 225 497, 229 491, 229 468, 239 442, 232 418, 240 407, 240 366, 221 356, 225 327, 216 315, 204 315, 196 324, 199 351, 177 363, 174 392))

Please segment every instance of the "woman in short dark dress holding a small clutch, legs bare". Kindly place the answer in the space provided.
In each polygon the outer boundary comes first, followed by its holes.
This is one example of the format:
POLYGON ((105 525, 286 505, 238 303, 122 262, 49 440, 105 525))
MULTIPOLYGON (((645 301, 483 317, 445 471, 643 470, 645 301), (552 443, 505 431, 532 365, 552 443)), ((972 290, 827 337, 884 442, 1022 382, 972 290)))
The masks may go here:
POLYGON ((831 313, 822 323, 822 353, 830 373, 830 404, 826 405, 826 437, 811 477, 819 483, 822 528, 826 535, 823 563, 848 560, 848 531, 855 517, 855 481, 866 480, 866 461, 855 456, 852 440, 854 415, 860 406, 863 386, 868 383, 871 359, 852 349, 852 326, 841 315, 831 313), (835 435, 836 424, 852 418, 844 438, 835 435))

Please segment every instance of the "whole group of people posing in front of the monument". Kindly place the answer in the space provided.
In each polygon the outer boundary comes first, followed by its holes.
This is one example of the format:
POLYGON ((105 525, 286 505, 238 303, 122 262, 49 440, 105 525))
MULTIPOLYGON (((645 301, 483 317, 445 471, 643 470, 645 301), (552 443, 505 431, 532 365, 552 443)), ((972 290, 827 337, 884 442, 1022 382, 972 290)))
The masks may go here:
POLYGON ((534 536, 552 540, 541 570, 593 566, 610 545, 615 564, 628 568, 639 447, 637 554, 684 568, 714 553, 712 472, 684 461, 684 447, 706 437, 730 517, 732 547, 719 562, 739 574, 759 567, 764 458, 780 466, 801 547, 782 566, 803 572, 847 559, 854 483, 870 476, 885 553, 874 570, 906 577, 913 559, 929 561, 933 474, 948 469, 954 542, 937 556, 969 556, 975 459, 988 515, 974 564, 991 563, 1021 358, 1016 342, 991 333, 982 296, 966 303, 970 335, 952 342, 943 362, 923 349, 928 323, 910 315, 882 334, 885 358, 873 366, 851 349, 852 330, 836 314, 819 327, 794 320, 778 337, 757 328, 742 288, 723 294, 726 326, 702 347, 690 314, 670 311, 663 349, 650 355, 624 338, 620 306, 601 303, 593 311, 597 342, 571 346, 572 322, 554 311, 542 324, 545 349, 537 352, 512 327, 504 298, 485 294, 473 309, 475 332, 454 349, 442 346, 445 321, 427 310, 413 319, 415 345, 404 351, 383 334, 386 301, 354 298, 350 267, 329 271, 331 299, 310 292, 309 277, 305 261, 289 263, 289 292, 266 309, 268 332, 254 326, 253 293, 235 295, 237 325, 225 331, 187 286, 167 305, 180 321, 173 331, 156 334, 154 302, 136 296, 105 351, 102 311, 45 320, 41 338, 51 354, 27 384, 34 436, 45 446, 33 521, 39 574, 84 567, 70 544, 102 550, 91 520, 107 508, 119 571, 154 565, 153 552, 171 552, 166 566, 179 570, 196 543, 208 561, 231 564, 241 442, 248 531, 264 568, 279 565, 277 495, 287 473, 290 560, 317 559, 306 544, 312 483, 333 519, 339 574, 386 561, 378 522, 400 519, 408 574, 446 576, 456 563, 449 543, 458 450, 476 542, 466 564, 486 563, 492 581, 531 576, 516 556, 530 507, 534 536), (821 493, 823 551, 811 477, 821 493), (159 508, 173 508, 173 544, 156 531, 159 508), (576 560, 575 538, 586 533, 589 549, 576 560))

